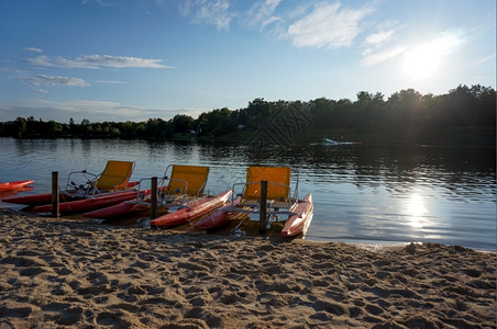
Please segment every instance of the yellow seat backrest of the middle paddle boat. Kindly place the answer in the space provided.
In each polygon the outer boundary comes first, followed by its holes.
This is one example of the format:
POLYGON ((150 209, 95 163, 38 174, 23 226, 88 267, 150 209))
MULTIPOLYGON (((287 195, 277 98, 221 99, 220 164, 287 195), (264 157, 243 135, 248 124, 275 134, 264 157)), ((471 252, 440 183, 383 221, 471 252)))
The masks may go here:
POLYGON ((183 194, 201 195, 208 177, 209 167, 174 164, 167 192, 168 194, 175 194, 179 190, 183 194), (185 182, 187 182, 187 185, 185 185, 185 182), (185 191, 185 186, 187 191, 185 191))

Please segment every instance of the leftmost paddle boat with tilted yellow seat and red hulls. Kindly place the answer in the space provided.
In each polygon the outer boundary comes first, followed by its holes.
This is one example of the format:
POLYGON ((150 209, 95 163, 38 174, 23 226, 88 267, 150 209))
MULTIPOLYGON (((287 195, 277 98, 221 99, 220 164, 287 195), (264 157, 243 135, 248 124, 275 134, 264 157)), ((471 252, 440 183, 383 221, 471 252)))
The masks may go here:
MULTIPOLYGON (((132 161, 109 160, 100 174, 86 170, 70 172, 65 191, 59 193, 59 212, 88 212, 136 197, 139 182, 130 182, 133 169, 132 161), (75 183, 75 178, 81 181, 81 177, 84 183, 75 183)), ((35 213, 52 212, 52 193, 11 196, 2 202, 33 206, 35 213)))

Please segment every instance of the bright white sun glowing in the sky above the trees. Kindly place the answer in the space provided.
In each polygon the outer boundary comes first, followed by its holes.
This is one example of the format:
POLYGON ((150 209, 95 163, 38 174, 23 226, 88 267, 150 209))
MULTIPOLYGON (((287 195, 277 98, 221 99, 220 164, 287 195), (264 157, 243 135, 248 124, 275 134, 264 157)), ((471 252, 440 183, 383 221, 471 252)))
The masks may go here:
POLYGON ((418 46, 406 53, 404 70, 415 80, 430 78, 439 68, 442 56, 442 49, 434 43, 418 46))

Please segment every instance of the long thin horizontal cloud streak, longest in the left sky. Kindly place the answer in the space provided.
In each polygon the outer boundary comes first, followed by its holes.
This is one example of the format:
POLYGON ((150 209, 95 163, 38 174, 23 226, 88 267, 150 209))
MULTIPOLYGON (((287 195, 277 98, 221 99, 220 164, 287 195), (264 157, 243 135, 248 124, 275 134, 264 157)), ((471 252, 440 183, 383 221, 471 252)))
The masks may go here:
POLYGON ((37 56, 35 58, 30 58, 29 61, 37 66, 60 68, 172 68, 170 66, 161 64, 161 59, 110 55, 85 55, 76 58, 67 58, 62 56, 37 56))

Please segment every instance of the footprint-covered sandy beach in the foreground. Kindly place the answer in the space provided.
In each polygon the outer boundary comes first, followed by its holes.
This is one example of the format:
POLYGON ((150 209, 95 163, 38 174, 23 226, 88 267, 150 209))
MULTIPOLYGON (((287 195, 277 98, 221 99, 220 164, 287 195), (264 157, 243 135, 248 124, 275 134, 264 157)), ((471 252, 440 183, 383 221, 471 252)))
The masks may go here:
POLYGON ((495 328, 496 254, 0 211, 0 328, 495 328))

